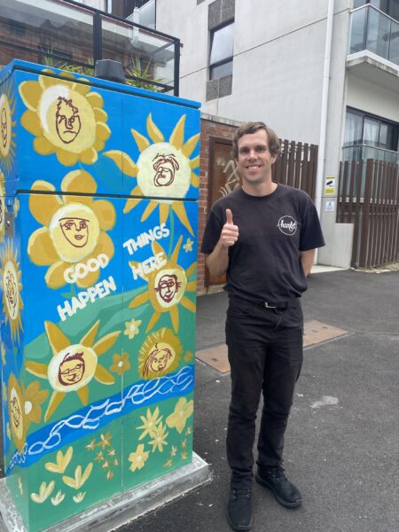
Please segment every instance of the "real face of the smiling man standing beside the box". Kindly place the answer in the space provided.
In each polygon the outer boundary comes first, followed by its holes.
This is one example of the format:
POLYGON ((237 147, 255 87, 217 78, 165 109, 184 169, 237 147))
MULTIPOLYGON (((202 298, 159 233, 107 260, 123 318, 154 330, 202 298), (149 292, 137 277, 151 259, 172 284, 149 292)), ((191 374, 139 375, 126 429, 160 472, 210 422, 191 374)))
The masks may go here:
POLYGON ((237 163, 243 185, 249 188, 271 183, 271 165, 276 160, 269 151, 269 138, 265 129, 243 135, 238 141, 237 163))

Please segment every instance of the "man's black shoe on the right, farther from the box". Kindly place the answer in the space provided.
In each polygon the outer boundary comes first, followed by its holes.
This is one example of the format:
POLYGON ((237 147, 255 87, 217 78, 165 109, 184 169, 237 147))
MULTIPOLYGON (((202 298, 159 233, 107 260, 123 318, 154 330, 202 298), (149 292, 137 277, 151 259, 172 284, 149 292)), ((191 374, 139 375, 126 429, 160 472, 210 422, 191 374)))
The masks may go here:
POLYGON ((288 481, 281 465, 265 469, 258 467, 255 481, 269 488, 280 505, 286 506, 286 508, 301 506, 301 492, 292 482, 288 481))

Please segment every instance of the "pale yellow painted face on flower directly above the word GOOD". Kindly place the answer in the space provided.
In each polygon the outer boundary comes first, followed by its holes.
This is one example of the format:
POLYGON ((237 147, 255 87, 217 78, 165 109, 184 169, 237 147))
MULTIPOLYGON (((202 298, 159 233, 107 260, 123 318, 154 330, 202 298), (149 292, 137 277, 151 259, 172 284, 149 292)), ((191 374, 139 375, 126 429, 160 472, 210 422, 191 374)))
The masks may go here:
POLYGON ((59 258, 79 262, 96 247, 100 228, 90 207, 70 203, 53 215, 49 231, 59 258))

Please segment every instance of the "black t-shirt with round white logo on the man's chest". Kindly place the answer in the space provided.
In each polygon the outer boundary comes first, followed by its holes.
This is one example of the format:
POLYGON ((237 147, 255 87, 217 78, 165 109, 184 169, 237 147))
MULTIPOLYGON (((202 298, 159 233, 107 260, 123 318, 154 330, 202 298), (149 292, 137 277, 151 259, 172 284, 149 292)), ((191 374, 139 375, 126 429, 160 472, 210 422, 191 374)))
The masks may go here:
POLYGON ((201 252, 210 254, 226 223, 226 208, 239 226, 229 247, 225 290, 249 301, 287 301, 307 289, 301 251, 325 246, 316 207, 306 192, 278 184, 267 196, 238 189, 213 205, 201 252))

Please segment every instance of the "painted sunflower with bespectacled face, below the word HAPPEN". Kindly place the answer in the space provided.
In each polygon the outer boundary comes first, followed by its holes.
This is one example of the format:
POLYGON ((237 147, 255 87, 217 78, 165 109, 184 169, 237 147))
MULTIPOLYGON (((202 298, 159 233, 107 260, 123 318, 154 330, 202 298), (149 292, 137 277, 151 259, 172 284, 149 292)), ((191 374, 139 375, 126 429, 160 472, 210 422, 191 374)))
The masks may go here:
POLYGON ((98 356, 113 346, 121 331, 110 332, 95 343, 98 320, 79 343, 72 344, 57 325, 46 321, 44 326, 52 350, 51 361, 41 364, 29 360, 26 367, 36 377, 47 379, 54 390, 44 415, 44 421, 47 421, 70 392, 76 392, 82 404, 86 405, 91 379, 106 385, 115 382, 111 373, 98 364, 98 356))

